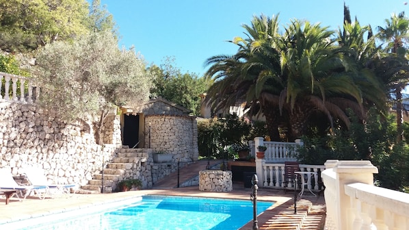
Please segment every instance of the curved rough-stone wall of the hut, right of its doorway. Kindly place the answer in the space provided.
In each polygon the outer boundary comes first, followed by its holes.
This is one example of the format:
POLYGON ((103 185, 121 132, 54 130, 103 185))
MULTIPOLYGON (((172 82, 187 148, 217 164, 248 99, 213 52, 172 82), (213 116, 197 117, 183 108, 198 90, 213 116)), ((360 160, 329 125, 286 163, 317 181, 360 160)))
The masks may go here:
MULTIPOLYGON (((145 117, 149 130, 150 148, 156 152, 173 154, 173 162, 192 162, 198 159, 198 126, 193 116, 151 115, 145 117)), ((149 142, 145 136, 145 142, 149 142)))

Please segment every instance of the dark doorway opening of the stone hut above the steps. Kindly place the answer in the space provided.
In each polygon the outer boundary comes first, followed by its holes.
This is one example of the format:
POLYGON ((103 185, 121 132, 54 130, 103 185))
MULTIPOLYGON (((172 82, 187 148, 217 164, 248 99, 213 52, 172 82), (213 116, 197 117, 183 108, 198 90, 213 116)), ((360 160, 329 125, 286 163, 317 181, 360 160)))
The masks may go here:
POLYGON ((139 145, 139 115, 124 115, 124 141, 129 148, 139 145))

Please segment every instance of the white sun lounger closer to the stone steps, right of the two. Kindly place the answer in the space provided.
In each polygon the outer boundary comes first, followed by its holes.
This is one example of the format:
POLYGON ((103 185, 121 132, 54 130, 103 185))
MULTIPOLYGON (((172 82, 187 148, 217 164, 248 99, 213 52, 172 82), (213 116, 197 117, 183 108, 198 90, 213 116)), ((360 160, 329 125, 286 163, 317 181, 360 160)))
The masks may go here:
POLYGON ((78 186, 76 184, 53 184, 50 183, 47 177, 44 175, 42 168, 24 168, 25 177, 32 186, 47 186, 49 193, 52 194, 70 194, 70 190, 73 189, 74 193, 77 191, 78 186))

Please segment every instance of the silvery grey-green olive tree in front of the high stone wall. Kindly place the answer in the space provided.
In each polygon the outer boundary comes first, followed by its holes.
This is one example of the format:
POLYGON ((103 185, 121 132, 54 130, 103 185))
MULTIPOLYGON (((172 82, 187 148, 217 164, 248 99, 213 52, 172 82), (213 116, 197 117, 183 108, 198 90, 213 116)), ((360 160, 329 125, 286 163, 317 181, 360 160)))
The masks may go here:
POLYGON ((142 57, 132 49, 118 49, 109 31, 45 45, 36 55, 35 70, 39 104, 64 120, 98 115, 93 123, 98 144, 109 111, 146 101, 152 84, 142 57))

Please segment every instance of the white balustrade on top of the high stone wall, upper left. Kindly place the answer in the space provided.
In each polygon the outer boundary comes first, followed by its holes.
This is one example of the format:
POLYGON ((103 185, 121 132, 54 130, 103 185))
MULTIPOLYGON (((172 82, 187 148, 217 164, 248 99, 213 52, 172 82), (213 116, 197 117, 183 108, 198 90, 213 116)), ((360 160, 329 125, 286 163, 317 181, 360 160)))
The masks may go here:
POLYGON ((34 98, 33 88, 33 79, 0 72, 0 101, 33 103, 40 93, 40 88, 36 87, 36 97, 34 98), (11 92, 10 85, 12 86, 11 92), (20 90, 18 90, 18 87, 20 90))

